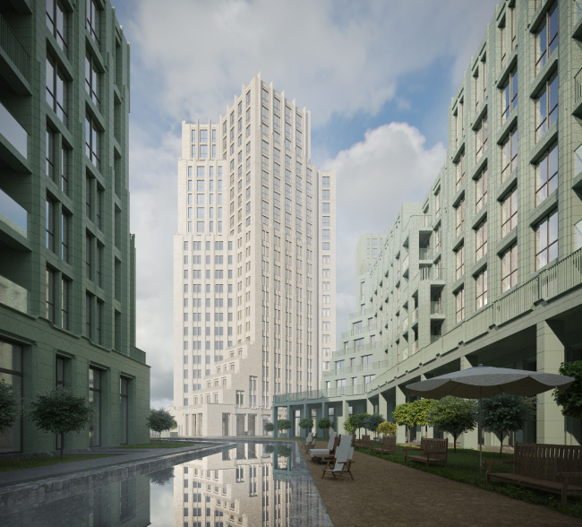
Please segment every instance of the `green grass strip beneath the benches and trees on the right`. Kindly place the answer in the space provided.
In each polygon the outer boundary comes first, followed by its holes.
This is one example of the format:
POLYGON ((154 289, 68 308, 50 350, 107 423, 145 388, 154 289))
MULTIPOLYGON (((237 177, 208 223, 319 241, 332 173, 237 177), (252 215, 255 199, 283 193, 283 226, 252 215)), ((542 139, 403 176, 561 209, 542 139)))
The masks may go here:
MULTIPOLYGON (((455 479, 456 481, 461 481, 462 483, 468 483, 469 485, 475 485, 478 488, 484 488, 485 490, 492 490, 493 492, 499 492, 500 494, 513 497, 515 499, 520 499, 527 503, 532 503, 535 505, 544 505, 553 510, 560 511, 561 513, 569 514, 572 516, 577 516, 582 518, 582 497, 568 497, 568 505, 562 506, 560 503, 560 495, 552 494, 549 492, 543 492, 542 490, 535 490, 533 488, 521 487, 518 485, 511 485, 509 483, 501 483, 492 481, 489 485, 485 484, 485 471, 484 467, 483 476, 479 476, 479 451, 478 450, 468 450, 463 448, 457 449, 457 454, 454 454, 453 449, 449 448, 449 456, 447 459, 447 466, 434 465, 426 467, 424 464, 419 462, 404 461, 404 445, 396 446, 396 454, 370 454, 370 449, 356 447, 358 452, 363 454, 373 455, 375 457, 381 457, 382 459, 388 460, 390 462, 400 463, 402 465, 407 465, 408 467, 415 468, 419 471, 432 472, 432 474, 437 474, 443 478, 455 479)), ((513 461, 513 454, 502 454, 500 456, 499 452, 483 452, 483 461, 513 461)), ((493 471, 499 472, 511 472, 511 465, 497 465, 493 467, 493 471)))

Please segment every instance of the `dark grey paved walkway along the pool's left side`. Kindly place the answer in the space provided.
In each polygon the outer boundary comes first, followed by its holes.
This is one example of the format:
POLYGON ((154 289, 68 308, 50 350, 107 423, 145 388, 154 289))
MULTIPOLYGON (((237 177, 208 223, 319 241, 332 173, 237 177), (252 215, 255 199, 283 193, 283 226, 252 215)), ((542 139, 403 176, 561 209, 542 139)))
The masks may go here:
MULTIPOLYGON (((0 488, 18 483, 26 483, 37 479, 56 478, 75 472, 86 472, 111 467, 114 465, 141 462, 155 459, 170 454, 183 454, 184 452, 199 450, 209 445, 184 446, 182 448, 94 448, 90 454, 111 454, 111 457, 101 457, 80 462, 68 462, 58 465, 48 465, 46 467, 36 467, 33 469, 22 469, 21 471, 0 472, 0 488)), ((82 453, 86 455, 88 453, 82 453)), ((72 454, 74 455, 74 454, 72 454)))

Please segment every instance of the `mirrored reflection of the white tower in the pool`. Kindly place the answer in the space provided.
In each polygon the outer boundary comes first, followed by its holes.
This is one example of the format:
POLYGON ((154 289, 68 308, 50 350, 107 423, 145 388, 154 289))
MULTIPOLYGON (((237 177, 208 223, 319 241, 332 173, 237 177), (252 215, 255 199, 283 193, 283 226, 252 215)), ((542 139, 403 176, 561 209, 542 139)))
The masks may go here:
POLYGON ((293 452, 287 445, 238 443, 176 466, 174 527, 322 524, 325 513, 312 478, 293 471, 299 461, 293 452))

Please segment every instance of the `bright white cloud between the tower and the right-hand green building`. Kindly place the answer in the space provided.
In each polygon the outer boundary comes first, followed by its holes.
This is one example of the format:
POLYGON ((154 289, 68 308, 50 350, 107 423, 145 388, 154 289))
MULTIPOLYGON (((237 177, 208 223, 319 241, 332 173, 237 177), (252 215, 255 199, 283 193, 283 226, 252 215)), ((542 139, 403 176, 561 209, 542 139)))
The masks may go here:
POLYGON ((347 330, 347 315, 355 311, 357 239, 386 232, 400 205, 422 201, 441 169, 445 147, 438 143, 425 149, 424 142, 413 126, 390 123, 323 163, 337 174, 338 334, 347 330))

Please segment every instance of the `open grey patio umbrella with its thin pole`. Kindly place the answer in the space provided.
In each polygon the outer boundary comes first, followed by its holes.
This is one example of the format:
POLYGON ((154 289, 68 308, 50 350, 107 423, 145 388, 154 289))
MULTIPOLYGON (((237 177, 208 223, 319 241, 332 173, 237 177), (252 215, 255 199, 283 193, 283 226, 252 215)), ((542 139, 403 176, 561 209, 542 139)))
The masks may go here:
MULTIPOLYGON (((419 383, 407 384, 407 393, 419 395, 425 399, 441 399, 445 395, 454 395, 463 399, 478 399, 479 429, 481 429, 481 410, 484 397, 492 397, 498 393, 532 397, 552 388, 565 390, 573 382, 573 377, 558 374, 480 364, 477 367, 432 377, 432 379, 419 383)), ((479 473, 482 471, 483 452, 481 438, 479 438, 479 473)))

